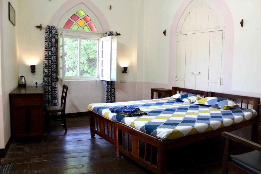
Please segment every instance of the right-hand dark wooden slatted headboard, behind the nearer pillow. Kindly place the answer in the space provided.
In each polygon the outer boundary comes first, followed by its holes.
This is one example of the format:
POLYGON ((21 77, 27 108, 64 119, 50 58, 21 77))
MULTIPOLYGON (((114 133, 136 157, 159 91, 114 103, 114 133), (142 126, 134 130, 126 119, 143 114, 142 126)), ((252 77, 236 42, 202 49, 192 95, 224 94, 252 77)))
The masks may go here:
POLYGON ((220 98, 227 98, 229 100, 236 101, 240 103, 239 107, 248 109, 248 106, 251 104, 253 105, 253 109, 259 113, 259 104, 260 98, 258 97, 248 97, 243 95, 234 95, 234 94, 224 94, 224 93, 217 93, 217 92, 208 92, 208 97, 220 97, 220 98), (249 103, 250 102, 250 103, 249 103))

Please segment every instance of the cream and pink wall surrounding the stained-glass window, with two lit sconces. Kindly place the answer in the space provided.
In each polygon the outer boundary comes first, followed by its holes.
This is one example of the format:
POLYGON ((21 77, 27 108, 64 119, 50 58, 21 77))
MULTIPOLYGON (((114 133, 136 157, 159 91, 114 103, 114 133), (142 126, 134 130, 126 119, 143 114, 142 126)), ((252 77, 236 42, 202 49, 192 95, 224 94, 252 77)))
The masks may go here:
MULTIPOLYGON (((132 81, 132 47, 133 47, 133 1, 110 0, 106 3, 102 0, 92 1, 100 11, 102 11, 106 20, 110 25, 111 31, 121 33, 118 37, 118 69, 117 79, 121 78, 127 80, 123 84, 122 90, 116 88, 116 96, 122 93, 127 93, 129 81, 132 81), (112 9, 109 10, 109 5, 112 9), (122 65, 128 66, 128 73, 123 74, 122 65)), ((45 32, 35 28, 40 23, 45 26, 48 25, 51 17, 56 10, 64 3, 63 0, 57 1, 35 1, 23 0, 19 4, 19 76, 24 75, 27 85, 32 80, 43 79, 43 55, 44 55, 44 37, 45 32), (44 7, 44 8, 41 8, 44 7), (33 15, 32 15, 33 14, 33 15), (43 15, 44 14, 44 15, 43 15), (24 25, 26 23, 26 25, 24 25), (36 64, 36 72, 34 74, 30 71, 30 64, 36 64)), ((134 23, 133 23, 134 22, 134 23)), ((79 81, 79 82, 65 82, 69 86, 66 112, 83 112, 90 103, 101 103, 102 100, 102 82, 97 81, 79 81), (77 97, 76 97, 77 96, 77 97)), ((120 84, 121 85, 121 84, 120 84)), ((62 84, 58 85, 59 100, 61 96, 62 84)), ((128 98, 129 95, 122 98, 128 98)), ((119 101, 119 100, 117 100, 119 101)))

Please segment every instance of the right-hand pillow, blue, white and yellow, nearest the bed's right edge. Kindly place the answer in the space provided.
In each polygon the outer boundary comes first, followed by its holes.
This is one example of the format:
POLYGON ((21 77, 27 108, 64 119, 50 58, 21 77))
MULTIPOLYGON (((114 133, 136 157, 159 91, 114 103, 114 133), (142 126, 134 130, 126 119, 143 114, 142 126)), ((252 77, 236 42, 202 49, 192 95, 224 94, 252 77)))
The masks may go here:
POLYGON ((204 99, 196 101, 194 104, 202 104, 219 109, 230 109, 238 105, 238 103, 233 100, 218 97, 205 97, 204 99))

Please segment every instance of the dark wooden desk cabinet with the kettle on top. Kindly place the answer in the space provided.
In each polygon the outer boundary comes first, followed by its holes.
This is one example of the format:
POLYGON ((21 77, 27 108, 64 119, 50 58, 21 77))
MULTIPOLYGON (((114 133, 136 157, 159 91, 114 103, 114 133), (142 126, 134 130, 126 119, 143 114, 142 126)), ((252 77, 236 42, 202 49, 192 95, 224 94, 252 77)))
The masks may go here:
POLYGON ((41 136, 44 140, 44 87, 17 87, 9 94, 11 133, 17 137, 41 136))

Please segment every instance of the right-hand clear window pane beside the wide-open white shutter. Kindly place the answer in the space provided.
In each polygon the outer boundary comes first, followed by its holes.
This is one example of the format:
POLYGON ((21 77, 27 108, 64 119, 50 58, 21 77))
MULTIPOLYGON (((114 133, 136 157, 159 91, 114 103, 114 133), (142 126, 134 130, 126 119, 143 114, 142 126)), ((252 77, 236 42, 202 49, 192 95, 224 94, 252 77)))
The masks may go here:
POLYGON ((97 40, 81 40, 81 76, 97 76, 97 40))

